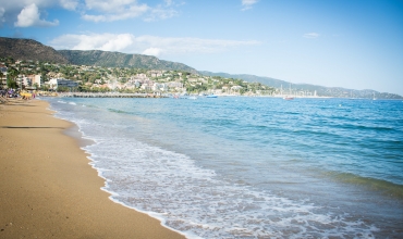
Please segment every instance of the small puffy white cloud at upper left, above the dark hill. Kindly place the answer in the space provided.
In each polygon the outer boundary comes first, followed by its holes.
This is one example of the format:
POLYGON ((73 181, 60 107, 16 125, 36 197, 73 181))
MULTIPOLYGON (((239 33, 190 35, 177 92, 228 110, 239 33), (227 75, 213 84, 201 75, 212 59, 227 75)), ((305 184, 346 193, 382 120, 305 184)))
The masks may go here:
POLYGON ((54 20, 53 22, 48 22, 40 20, 40 13, 38 7, 35 3, 32 3, 25 7, 17 16, 17 22, 14 23, 16 27, 30 27, 30 26, 40 26, 40 27, 50 27, 59 25, 59 21, 54 20))

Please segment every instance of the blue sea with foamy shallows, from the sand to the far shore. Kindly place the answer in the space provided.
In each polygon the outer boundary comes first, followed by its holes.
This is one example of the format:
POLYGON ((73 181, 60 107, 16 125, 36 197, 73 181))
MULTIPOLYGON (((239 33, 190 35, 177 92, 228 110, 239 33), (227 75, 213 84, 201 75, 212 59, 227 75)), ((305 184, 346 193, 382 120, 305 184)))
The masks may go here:
POLYGON ((112 201, 187 238, 403 238, 402 100, 42 100, 112 201))

